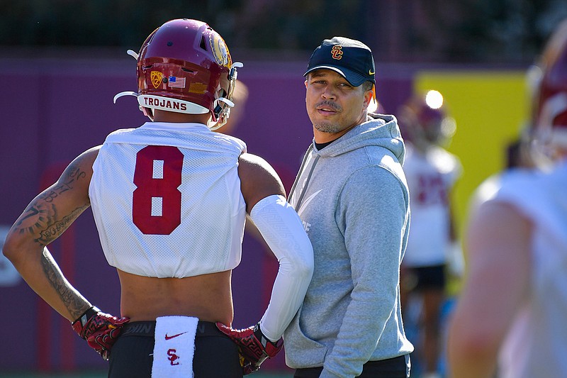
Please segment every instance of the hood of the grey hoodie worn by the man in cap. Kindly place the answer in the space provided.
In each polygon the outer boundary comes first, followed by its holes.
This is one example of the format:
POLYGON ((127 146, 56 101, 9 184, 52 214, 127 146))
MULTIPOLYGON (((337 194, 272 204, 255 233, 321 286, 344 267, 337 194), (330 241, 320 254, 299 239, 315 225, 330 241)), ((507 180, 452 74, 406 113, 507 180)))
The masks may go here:
POLYGON ((403 163, 405 145, 395 116, 369 113, 367 119, 368 121, 354 126, 320 151, 315 148, 313 139, 313 151, 321 157, 335 157, 357 148, 375 145, 390 150, 403 163))

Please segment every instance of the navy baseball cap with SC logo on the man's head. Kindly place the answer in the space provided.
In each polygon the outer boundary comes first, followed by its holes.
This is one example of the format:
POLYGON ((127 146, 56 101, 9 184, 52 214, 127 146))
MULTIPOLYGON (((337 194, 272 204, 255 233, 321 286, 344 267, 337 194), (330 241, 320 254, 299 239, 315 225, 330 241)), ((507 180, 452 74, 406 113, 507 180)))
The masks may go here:
POLYGON ((303 76, 320 68, 338 72, 354 87, 364 82, 376 84, 372 51, 358 40, 345 37, 323 40, 309 58, 307 72, 303 76))

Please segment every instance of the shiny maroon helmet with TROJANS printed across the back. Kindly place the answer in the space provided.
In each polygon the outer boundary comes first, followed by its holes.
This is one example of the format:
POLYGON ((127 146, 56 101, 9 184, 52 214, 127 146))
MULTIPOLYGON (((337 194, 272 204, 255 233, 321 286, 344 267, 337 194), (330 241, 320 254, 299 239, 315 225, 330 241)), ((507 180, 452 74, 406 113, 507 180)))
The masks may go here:
POLYGON ((230 116, 237 67, 223 38, 203 21, 189 18, 167 21, 154 30, 136 54, 140 109, 153 119, 153 109, 178 113, 210 113, 220 128, 230 116))

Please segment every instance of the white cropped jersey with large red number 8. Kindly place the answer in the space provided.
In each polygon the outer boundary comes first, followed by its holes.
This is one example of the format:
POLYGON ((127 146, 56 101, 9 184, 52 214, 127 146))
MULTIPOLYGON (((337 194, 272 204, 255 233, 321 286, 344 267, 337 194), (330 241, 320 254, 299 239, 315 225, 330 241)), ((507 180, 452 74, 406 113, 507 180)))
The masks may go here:
POLYGON ((149 122, 108 135, 89 187, 108 264, 145 277, 237 267, 245 150, 242 140, 198 123, 149 122))

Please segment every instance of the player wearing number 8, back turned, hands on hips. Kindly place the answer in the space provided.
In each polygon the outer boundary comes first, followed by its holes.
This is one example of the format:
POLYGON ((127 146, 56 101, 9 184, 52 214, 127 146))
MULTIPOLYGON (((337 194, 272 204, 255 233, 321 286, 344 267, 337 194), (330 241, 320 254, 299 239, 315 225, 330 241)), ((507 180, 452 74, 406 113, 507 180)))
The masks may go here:
POLYGON ((79 155, 14 223, 4 255, 110 360, 108 377, 242 377, 280 350, 313 250, 274 169, 242 140, 212 131, 230 115, 242 66, 223 38, 206 23, 177 19, 129 53, 138 92, 115 101, 136 96, 152 122, 116 130, 79 155), (89 206, 120 278, 121 318, 92 306, 47 250, 89 206), (247 213, 280 269, 261 321, 236 332, 228 328, 231 272, 247 213))

